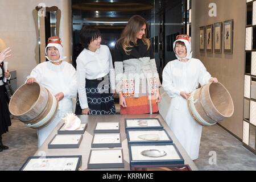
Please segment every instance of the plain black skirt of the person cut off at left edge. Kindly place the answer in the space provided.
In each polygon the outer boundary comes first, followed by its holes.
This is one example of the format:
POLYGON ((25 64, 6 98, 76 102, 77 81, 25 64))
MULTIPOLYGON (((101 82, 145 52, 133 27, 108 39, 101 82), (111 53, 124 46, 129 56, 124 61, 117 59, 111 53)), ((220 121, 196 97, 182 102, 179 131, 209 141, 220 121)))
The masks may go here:
POLYGON ((7 106, 7 96, 5 91, 5 86, 0 86, 0 135, 9 131, 8 127, 11 126, 10 113, 7 106))

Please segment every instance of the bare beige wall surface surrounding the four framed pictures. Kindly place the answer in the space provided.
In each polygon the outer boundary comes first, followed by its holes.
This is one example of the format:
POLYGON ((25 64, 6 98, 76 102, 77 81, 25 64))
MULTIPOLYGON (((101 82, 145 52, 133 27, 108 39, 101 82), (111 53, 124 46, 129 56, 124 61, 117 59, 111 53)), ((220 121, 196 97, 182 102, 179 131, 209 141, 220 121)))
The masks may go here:
POLYGON ((221 122, 221 125, 242 139, 246 0, 195 0, 192 2, 193 57, 200 59, 212 76, 217 77, 229 90, 234 101, 234 115, 221 122), (216 3, 217 17, 208 15, 209 3, 216 3), (234 19, 233 55, 200 53, 199 27, 229 19, 234 19))

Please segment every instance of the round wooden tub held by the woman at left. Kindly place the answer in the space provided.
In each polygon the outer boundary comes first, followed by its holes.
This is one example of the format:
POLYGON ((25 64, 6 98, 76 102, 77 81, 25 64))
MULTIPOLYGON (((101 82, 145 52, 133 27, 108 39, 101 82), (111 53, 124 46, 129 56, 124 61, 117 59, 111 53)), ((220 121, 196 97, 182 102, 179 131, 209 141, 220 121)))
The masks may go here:
POLYGON ((16 90, 10 100, 9 110, 27 126, 39 129, 54 117, 57 101, 46 88, 34 82, 16 90))

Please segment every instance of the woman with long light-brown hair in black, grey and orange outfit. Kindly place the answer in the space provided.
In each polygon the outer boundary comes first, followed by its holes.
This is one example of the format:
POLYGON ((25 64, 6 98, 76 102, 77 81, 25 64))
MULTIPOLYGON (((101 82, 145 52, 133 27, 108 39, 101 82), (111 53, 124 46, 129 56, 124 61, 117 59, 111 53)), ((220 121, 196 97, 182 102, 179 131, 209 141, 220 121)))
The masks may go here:
POLYGON ((115 90, 121 114, 158 111, 159 76, 147 30, 146 20, 134 15, 115 44, 115 90))

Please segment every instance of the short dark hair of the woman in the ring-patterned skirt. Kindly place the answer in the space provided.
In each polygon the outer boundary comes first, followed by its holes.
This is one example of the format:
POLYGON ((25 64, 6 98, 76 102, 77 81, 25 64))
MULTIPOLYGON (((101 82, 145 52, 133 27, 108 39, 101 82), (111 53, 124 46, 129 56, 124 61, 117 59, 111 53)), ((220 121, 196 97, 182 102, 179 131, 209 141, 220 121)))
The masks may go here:
POLYGON ((100 37, 101 32, 96 27, 84 26, 82 27, 79 36, 80 36, 80 43, 82 44, 82 47, 88 49, 90 42, 100 37))

